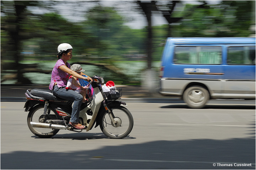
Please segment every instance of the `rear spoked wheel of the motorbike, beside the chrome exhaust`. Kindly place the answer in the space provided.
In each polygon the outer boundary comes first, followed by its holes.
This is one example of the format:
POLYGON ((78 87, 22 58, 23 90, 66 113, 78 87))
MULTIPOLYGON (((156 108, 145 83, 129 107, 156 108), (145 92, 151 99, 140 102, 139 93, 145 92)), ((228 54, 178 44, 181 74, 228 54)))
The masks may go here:
POLYGON ((46 118, 57 119, 57 113, 52 108, 48 107, 46 116, 43 115, 43 112, 44 112, 44 105, 39 104, 28 113, 28 117, 27 117, 28 128, 31 130, 31 132, 34 135, 38 137, 43 137, 43 138, 52 137, 58 133, 59 129, 34 128, 30 124, 30 122, 45 123, 46 118))

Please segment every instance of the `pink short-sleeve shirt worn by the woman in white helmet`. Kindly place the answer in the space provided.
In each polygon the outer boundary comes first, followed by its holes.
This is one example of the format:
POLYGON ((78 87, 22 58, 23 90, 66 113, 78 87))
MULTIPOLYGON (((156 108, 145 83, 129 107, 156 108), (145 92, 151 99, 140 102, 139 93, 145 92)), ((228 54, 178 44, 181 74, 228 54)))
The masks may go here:
MULTIPOLYGON (((52 70, 52 78, 49 85, 50 90, 53 89, 55 82, 57 83, 58 87, 66 86, 66 84, 68 83, 67 79, 69 78, 69 74, 59 69, 59 67, 62 65, 65 66, 64 61, 62 59, 59 59, 52 70)), ((70 68, 70 64, 68 62, 66 62, 66 66, 70 68)))

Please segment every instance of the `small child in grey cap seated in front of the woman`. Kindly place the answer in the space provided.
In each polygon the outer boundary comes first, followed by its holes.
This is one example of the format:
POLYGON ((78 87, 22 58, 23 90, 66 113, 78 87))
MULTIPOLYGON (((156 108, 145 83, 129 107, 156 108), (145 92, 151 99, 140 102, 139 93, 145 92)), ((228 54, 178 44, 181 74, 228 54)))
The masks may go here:
MULTIPOLYGON (((84 69, 80 66, 80 64, 73 64, 70 67, 71 70, 81 75, 82 72, 85 72, 84 69)), ((86 102, 86 91, 88 89, 88 86, 81 86, 79 83, 78 78, 70 75, 68 83, 65 87, 66 89, 74 90, 75 92, 81 94, 83 96, 83 101, 86 102)))

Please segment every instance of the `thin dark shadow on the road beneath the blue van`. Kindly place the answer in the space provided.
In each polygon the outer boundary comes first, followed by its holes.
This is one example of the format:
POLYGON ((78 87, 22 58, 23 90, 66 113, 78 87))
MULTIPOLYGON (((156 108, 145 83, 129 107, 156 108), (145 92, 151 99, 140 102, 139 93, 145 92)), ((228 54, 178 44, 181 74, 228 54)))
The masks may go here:
MULTIPOLYGON (((160 107, 162 109, 191 109, 185 104, 170 104, 160 107)), ((255 109, 255 106, 250 105, 206 105, 202 109, 255 109)))

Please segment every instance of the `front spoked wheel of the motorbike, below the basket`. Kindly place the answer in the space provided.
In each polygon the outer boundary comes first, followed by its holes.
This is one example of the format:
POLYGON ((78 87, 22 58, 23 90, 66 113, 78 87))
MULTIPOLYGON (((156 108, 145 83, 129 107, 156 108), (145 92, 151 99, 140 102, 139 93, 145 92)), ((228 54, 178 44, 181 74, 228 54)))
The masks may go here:
POLYGON ((100 128, 103 134, 112 139, 121 139, 126 137, 133 128, 133 117, 130 111, 123 106, 114 106, 111 108, 114 115, 112 123, 108 113, 104 113, 101 117, 100 128))

